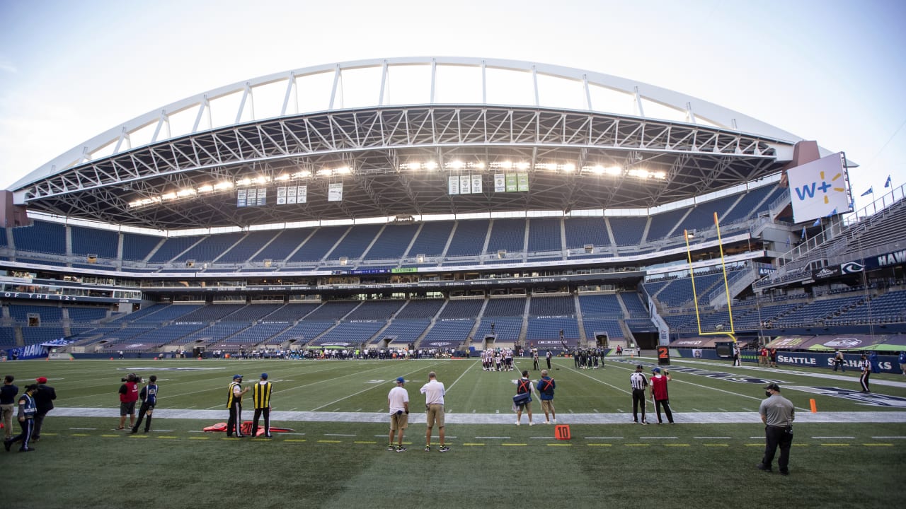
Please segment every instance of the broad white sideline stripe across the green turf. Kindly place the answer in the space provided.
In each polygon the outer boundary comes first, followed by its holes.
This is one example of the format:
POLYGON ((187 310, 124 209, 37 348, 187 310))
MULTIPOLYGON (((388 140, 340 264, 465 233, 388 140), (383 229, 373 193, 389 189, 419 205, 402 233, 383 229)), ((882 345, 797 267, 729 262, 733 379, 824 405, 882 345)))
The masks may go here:
MULTIPOLYGON (((53 408, 51 417, 71 418, 118 418, 120 408, 53 408)), ((754 412, 674 412, 682 424, 751 424, 763 426, 761 418, 754 412)), ((226 409, 201 410, 187 408, 156 408, 154 418, 183 418, 226 421, 226 409)), ((272 422, 375 422, 386 423, 387 415, 379 412, 271 412, 272 422)), ((513 416, 505 414, 457 414, 448 413, 450 424, 513 424, 513 416)), ((410 415, 410 423, 424 424, 424 413, 410 415)), ((906 423, 906 411, 888 412, 818 412, 797 415, 795 424, 808 423, 906 423)), ((609 414, 568 414, 557 416, 557 424, 632 424, 620 413, 609 414)))

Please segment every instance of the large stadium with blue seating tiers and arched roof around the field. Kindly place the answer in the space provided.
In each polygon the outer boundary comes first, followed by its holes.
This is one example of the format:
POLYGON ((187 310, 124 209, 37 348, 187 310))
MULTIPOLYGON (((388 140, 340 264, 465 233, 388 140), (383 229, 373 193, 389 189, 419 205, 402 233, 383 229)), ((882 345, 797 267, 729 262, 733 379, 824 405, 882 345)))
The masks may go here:
POLYGON ((576 351, 670 364, 738 345, 750 368, 766 347, 780 367, 874 351, 900 373, 903 187, 854 210, 857 163, 819 143, 536 62, 388 58, 228 84, 0 193, 0 349, 118 370, 513 349, 565 370, 576 351))

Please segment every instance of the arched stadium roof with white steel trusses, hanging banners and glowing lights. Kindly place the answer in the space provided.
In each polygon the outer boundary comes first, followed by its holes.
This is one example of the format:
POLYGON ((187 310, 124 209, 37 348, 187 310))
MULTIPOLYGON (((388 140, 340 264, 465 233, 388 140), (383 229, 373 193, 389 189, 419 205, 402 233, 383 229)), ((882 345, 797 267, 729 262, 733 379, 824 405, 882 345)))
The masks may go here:
POLYGON ((10 190, 31 211, 166 230, 647 208, 776 174, 800 140, 597 72, 411 57, 200 93, 86 140, 10 190), (287 187, 298 203, 285 203, 287 187), (250 189, 258 205, 240 206, 254 205, 240 203, 250 189))

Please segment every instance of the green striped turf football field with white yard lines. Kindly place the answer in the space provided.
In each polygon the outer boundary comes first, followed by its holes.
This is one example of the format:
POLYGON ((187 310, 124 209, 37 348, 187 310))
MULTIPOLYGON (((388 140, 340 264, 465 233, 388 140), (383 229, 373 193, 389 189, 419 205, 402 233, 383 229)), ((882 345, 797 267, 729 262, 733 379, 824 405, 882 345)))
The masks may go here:
MULTIPOLYGON (((518 371, 488 372, 479 360, 54 360, 7 362, 24 388, 39 376, 58 398, 31 454, 2 453, 17 507, 795 507, 889 503, 906 466, 906 378, 801 368, 734 368, 728 362, 673 360, 667 368, 676 424, 632 423, 629 376, 652 358, 609 358, 597 370, 554 359, 558 440, 533 420, 516 426, 518 371), (435 371, 447 387, 447 444, 425 452, 424 396, 435 371), (120 379, 157 375, 151 432, 119 424, 120 379), (204 427, 226 421, 234 374, 250 387, 274 383, 274 438, 227 438, 204 427), (404 453, 387 450, 387 393, 404 377, 410 427, 404 453), (760 472, 763 386, 778 383, 796 407, 791 475, 760 472), (812 412, 811 400, 814 399, 812 412), (38 481, 31 485, 37 475, 38 481), (34 489, 31 489, 34 488, 34 489), (777 493, 782 494, 780 499, 777 493)), ((542 368, 545 361, 541 360, 542 368)), ((243 419, 252 418, 246 394, 243 419)), ((664 419, 666 422, 666 418, 664 419)), ((18 431, 16 426, 16 432, 18 431)))

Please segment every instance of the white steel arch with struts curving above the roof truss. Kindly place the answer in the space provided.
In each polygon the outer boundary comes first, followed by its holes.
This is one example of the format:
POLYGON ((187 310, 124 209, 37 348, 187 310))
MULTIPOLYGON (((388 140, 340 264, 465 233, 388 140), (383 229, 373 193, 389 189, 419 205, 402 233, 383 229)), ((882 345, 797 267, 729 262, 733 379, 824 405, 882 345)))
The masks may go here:
MULTIPOLYGON (((482 59, 467 57, 400 57, 388 59, 372 59, 353 62, 338 62, 296 69, 289 72, 278 72, 260 76, 251 80, 236 82, 205 91, 180 101, 172 102, 159 109, 149 111, 123 124, 106 130, 91 139, 87 139, 76 147, 67 150, 60 156, 35 169, 33 172, 16 182, 10 189, 15 190, 27 186, 43 178, 48 178, 66 168, 80 165, 96 158, 106 158, 151 143, 174 139, 181 136, 226 127, 230 124, 241 124, 265 118, 279 118, 297 115, 316 110, 345 110, 342 104, 344 90, 373 91, 373 103, 368 106, 383 106, 388 101, 390 89, 390 76, 394 71, 405 68, 424 68, 428 70, 429 78, 425 83, 406 82, 408 90, 425 91, 426 101, 416 101, 412 104, 448 104, 458 103, 457 98, 451 97, 446 101, 438 101, 436 92, 439 91, 439 69, 466 68, 480 73, 477 86, 480 87, 480 104, 517 104, 521 106, 545 107, 547 99, 541 93, 538 77, 543 76, 556 82, 573 83, 580 85, 577 94, 583 105, 580 110, 616 113, 619 115, 633 116, 648 119, 662 119, 682 121, 691 124, 704 124, 714 126, 721 130, 733 130, 742 133, 752 133, 771 139, 787 140, 792 145, 801 137, 795 136, 786 130, 778 129, 761 120, 754 119, 743 113, 728 110, 709 101, 704 101, 678 91, 670 91, 649 83, 634 82, 618 76, 601 72, 583 71, 560 65, 545 63, 523 62, 514 60, 482 59), (379 76, 376 82, 352 82, 356 80, 356 72, 371 70, 379 76), (489 77, 488 70, 495 73, 489 77), (513 86, 520 82, 527 91, 524 94, 512 95, 514 101, 488 101, 488 87, 495 80, 513 78, 513 86), (520 81, 519 78, 528 77, 520 81), (320 109, 300 109, 299 96, 319 91, 316 83, 330 82, 325 91, 323 107, 320 109), (344 82, 344 79, 351 82, 344 82), (314 85, 313 85, 314 84, 314 85), (361 88, 360 88, 361 87, 361 88), (282 93, 266 95, 265 90, 279 89, 282 93), (625 109, 614 110, 612 104, 604 109, 593 101, 596 90, 618 92, 626 97, 625 109), (256 94, 256 92, 259 92, 256 94), (519 101, 520 97, 530 98, 528 101, 519 101), (268 104, 265 104, 269 102, 268 104), (646 104, 658 106, 660 114, 651 114, 652 108, 646 104), (226 110, 226 122, 214 120, 215 111, 226 110), (274 111, 275 114, 259 113, 261 118, 255 117, 255 110, 274 111), (650 116, 646 116, 646 110, 650 116), (668 112, 665 118, 662 113, 668 112), (172 121, 178 116, 187 116, 191 119, 185 130, 174 129, 176 122, 172 121)), ((396 86, 396 85, 395 85, 396 86)), ((509 86, 507 84, 507 86, 509 86)), ((405 87, 400 87, 404 88, 405 87)), ((367 94, 366 94, 367 95, 367 94)), ((471 101, 476 102, 476 101, 471 101)))

